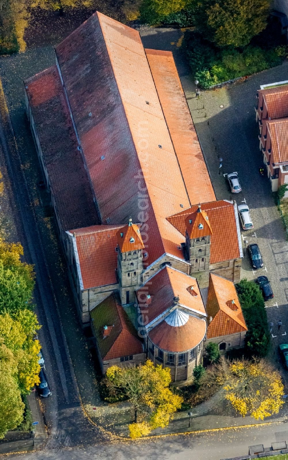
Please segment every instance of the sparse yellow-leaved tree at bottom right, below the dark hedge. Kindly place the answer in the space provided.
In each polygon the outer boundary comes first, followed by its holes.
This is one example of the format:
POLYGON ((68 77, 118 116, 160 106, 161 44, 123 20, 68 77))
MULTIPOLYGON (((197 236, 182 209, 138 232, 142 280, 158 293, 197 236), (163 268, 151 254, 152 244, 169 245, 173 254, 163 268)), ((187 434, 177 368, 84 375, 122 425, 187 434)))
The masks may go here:
POLYGON ((224 400, 242 417, 263 420, 278 414, 284 404, 280 374, 264 359, 229 362, 222 357, 208 369, 205 385, 222 388, 224 400))

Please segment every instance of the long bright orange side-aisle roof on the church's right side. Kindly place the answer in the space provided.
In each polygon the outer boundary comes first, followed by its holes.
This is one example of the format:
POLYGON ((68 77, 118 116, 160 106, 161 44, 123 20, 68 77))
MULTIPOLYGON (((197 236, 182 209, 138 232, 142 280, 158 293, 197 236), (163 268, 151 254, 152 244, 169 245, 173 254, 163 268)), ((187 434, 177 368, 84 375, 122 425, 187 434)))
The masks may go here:
POLYGON ((191 204, 216 200, 170 51, 145 49, 191 204))

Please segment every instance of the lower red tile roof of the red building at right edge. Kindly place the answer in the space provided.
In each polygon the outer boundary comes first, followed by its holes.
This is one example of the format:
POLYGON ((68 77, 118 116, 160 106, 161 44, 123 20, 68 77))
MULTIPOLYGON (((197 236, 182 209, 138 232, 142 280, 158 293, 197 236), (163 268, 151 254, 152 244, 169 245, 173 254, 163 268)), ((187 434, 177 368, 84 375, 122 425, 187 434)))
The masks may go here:
POLYGON ((288 161, 288 118, 265 120, 271 137, 271 151, 274 163, 288 161))

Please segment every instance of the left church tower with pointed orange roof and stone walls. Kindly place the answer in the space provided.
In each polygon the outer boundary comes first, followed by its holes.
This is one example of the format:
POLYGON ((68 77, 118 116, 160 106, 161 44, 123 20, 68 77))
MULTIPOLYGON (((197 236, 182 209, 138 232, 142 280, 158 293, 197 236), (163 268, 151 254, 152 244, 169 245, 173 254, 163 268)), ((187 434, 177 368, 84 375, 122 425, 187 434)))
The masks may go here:
POLYGON ((132 219, 118 231, 117 242, 119 291, 122 305, 127 305, 136 301, 135 291, 141 285, 143 271, 144 243, 138 225, 132 224, 132 219))

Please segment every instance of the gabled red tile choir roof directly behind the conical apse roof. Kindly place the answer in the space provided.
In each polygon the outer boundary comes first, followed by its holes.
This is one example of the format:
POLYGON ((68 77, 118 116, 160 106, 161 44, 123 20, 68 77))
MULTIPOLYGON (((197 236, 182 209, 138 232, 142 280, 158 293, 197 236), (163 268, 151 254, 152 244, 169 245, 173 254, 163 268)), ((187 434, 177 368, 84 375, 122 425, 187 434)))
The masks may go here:
POLYGON ((149 323, 157 316, 171 309, 175 305, 175 297, 179 297, 177 304, 185 305, 191 311, 197 311, 206 316, 196 279, 174 268, 165 266, 137 291, 139 308, 144 311, 144 315, 147 315, 149 323), (197 295, 189 292, 191 282, 197 295), (147 296, 149 295, 152 301, 149 299, 149 302, 147 302, 147 296))

